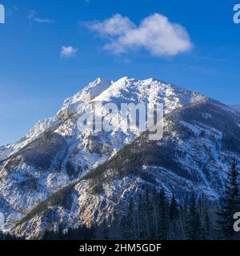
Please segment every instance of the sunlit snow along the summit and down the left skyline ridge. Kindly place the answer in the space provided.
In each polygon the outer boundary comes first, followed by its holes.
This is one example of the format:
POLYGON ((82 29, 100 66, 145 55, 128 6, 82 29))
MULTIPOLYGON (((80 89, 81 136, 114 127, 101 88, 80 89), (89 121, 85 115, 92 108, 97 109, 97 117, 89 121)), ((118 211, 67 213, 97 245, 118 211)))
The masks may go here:
POLYGON ((198 102, 204 98, 201 94, 183 90, 177 86, 160 82, 150 78, 146 80, 136 80, 134 78, 121 78, 117 82, 97 78, 94 82, 90 82, 83 90, 73 97, 67 98, 63 103, 62 109, 54 118, 46 118, 39 121, 33 129, 26 134, 26 137, 14 142, 6 147, 7 153, 3 156, 4 148, 0 151, 0 161, 4 160, 12 152, 20 150, 26 146, 38 135, 42 134, 50 127, 56 129, 61 126, 62 122, 66 122, 77 110, 82 102, 101 101, 118 103, 138 103, 138 102, 161 102, 164 103, 165 113, 182 107, 190 103, 198 102), (10 153, 9 153, 10 152, 10 153))

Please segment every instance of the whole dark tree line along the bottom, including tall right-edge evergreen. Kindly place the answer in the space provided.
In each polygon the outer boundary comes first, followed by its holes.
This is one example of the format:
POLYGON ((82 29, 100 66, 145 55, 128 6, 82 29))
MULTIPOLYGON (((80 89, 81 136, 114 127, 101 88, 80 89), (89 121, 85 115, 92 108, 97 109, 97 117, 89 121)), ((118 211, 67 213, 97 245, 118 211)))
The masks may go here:
MULTIPOLYGON (((91 239, 136 239, 136 240, 206 240, 238 239, 234 231, 234 214, 240 212, 239 170, 234 161, 226 174, 224 194, 218 210, 192 193, 185 205, 178 203, 165 190, 145 189, 138 198, 130 198, 127 206, 116 210, 110 222, 104 218, 100 225, 79 226, 57 231, 46 230, 43 240, 91 240, 91 239)), ((0 232, 0 240, 16 240, 10 234, 0 232)))

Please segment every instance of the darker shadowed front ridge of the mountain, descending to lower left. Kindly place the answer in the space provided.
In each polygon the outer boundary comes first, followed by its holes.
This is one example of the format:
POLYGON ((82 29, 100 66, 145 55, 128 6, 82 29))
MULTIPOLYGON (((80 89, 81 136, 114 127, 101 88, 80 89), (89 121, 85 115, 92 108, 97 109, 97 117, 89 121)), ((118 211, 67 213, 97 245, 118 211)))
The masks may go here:
POLYGON ((240 162, 239 120, 238 111, 211 99, 174 110, 164 118, 161 141, 142 134, 110 161, 35 207, 11 233, 36 238, 59 226, 111 221, 115 212, 124 214, 130 198, 137 204, 141 191, 153 188, 164 188, 179 203, 188 202, 194 191, 213 208, 233 159, 240 162))

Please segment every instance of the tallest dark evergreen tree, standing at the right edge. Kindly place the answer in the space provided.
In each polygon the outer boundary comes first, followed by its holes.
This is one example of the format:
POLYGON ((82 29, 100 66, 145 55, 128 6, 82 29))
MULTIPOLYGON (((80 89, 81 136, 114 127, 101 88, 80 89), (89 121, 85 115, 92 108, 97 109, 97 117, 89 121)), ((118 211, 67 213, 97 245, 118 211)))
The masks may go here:
POLYGON ((220 210, 217 212, 218 228, 221 238, 230 239, 234 235, 234 213, 240 209, 238 167, 234 161, 231 170, 227 173, 225 194, 220 201, 220 210))

